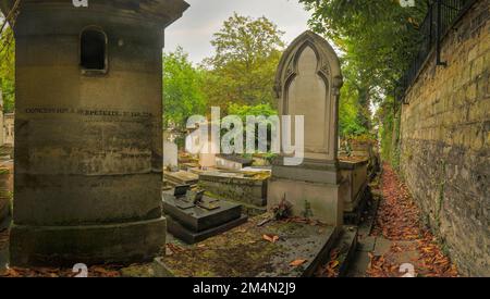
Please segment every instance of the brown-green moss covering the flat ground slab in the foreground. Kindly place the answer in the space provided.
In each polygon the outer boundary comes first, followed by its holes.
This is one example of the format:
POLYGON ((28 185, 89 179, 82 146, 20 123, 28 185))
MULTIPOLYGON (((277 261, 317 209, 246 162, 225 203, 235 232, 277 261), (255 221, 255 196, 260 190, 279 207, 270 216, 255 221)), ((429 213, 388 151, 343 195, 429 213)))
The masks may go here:
MULTIPOLYGON (((261 273, 293 271, 289 269, 289 263, 294 258, 302 258, 295 257, 295 250, 302 246, 304 248, 297 249, 297 254, 319 250, 319 242, 310 241, 318 238, 318 226, 294 222, 257 225, 270 217, 270 214, 260 215, 225 234, 181 247, 182 250, 176 250, 179 252, 164 257, 163 262, 175 276, 255 277, 261 273), (264 239, 264 235, 279 236, 280 240, 270 242, 264 239), (292 246, 290 241, 301 246, 292 246), (278 270, 278 261, 282 269, 278 270)), ((301 272, 301 269, 294 271, 301 272)))

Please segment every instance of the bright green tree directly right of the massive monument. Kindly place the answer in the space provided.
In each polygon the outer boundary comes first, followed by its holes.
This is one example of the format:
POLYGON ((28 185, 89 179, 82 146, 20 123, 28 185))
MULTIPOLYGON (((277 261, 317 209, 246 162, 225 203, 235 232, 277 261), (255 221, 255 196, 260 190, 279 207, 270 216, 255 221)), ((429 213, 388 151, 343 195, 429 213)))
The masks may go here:
POLYGON ((163 123, 166 127, 185 128, 189 116, 206 113, 207 100, 203 92, 204 71, 189 62, 179 47, 163 54, 163 123))

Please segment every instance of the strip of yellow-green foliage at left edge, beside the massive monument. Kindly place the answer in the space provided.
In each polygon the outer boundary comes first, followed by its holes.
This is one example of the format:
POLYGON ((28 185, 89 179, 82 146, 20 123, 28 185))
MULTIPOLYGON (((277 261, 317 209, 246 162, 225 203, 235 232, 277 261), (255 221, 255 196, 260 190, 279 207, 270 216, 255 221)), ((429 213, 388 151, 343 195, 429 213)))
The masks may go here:
MULTIPOLYGON (((0 18, 0 25, 2 20, 0 18)), ((13 112, 15 105, 15 41, 10 27, 0 33, 0 90, 3 112, 13 112)))

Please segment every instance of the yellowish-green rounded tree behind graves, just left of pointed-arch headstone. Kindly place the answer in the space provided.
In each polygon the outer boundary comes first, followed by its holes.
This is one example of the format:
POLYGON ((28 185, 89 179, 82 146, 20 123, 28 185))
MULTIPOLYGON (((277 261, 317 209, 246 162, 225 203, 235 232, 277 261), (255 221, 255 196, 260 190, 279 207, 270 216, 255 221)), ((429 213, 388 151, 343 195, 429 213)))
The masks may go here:
POLYGON ((283 33, 266 17, 233 14, 215 34, 216 54, 206 59, 206 94, 226 112, 230 102, 275 105, 273 85, 283 33))

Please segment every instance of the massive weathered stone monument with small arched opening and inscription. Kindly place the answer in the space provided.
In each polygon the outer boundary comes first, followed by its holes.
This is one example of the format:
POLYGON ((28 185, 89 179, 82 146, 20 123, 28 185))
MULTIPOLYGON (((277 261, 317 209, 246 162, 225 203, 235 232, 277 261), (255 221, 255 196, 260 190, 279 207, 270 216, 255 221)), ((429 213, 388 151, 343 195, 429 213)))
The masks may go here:
MULTIPOLYGON (((7 15, 14 0, 1 0, 7 15)), ((24 0, 11 264, 133 262, 166 241, 163 28, 183 0, 24 0)))

